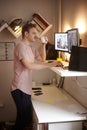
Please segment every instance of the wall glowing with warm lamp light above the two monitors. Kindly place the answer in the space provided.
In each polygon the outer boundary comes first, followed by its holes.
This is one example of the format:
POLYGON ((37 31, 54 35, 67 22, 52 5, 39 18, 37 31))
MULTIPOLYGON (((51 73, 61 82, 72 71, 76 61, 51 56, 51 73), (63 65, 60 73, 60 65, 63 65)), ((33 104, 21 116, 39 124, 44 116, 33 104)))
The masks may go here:
POLYGON ((87 1, 61 0, 62 31, 79 28, 82 44, 87 46, 87 1))

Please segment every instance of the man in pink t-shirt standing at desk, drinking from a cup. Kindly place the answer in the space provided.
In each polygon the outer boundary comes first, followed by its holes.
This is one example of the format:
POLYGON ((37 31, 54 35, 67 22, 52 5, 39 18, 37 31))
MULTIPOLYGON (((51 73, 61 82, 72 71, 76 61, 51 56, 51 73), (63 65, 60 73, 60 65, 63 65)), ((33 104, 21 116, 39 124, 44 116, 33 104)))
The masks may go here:
POLYGON ((13 130, 24 130, 29 126, 32 130, 32 70, 61 66, 60 62, 46 63, 46 44, 41 43, 39 53, 32 43, 38 39, 36 25, 29 23, 22 28, 22 41, 17 44, 14 51, 14 78, 11 86, 11 94, 17 108, 17 118, 13 130), (36 63, 35 60, 41 61, 36 63))

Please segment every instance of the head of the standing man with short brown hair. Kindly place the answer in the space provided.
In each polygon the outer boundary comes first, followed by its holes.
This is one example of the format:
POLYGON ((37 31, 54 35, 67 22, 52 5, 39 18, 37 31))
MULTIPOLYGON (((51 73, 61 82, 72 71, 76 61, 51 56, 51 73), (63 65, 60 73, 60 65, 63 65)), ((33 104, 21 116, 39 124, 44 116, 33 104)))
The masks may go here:
POLYGON ((35 42, 38 38, 38 31, 35 24, 26 23, 22 27, 22 38, 29 42, 35 42))

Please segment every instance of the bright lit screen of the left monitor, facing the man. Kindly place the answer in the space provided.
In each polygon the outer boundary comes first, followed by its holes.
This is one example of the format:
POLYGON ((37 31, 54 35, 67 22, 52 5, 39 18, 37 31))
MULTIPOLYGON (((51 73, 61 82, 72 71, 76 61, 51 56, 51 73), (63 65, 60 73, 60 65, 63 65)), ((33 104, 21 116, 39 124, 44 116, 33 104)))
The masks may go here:
POLYGON ((67 33, 55 33, 55 50, 68 51, 67 33))

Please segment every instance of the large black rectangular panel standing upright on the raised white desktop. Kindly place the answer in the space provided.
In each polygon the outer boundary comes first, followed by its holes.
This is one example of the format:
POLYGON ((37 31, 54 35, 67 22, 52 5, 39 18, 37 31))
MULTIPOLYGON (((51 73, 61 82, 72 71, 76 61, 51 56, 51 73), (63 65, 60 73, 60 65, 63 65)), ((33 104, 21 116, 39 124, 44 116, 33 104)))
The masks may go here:
POLYGON ((87 71, 87 47, 72 46, 68 69, 87 71))

